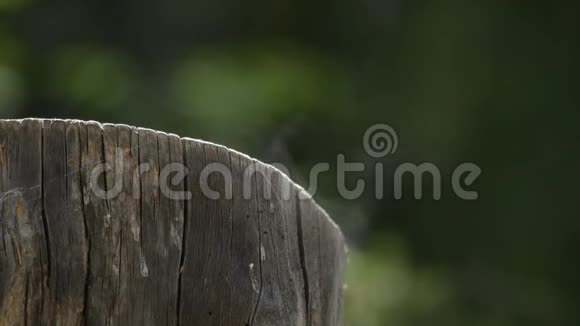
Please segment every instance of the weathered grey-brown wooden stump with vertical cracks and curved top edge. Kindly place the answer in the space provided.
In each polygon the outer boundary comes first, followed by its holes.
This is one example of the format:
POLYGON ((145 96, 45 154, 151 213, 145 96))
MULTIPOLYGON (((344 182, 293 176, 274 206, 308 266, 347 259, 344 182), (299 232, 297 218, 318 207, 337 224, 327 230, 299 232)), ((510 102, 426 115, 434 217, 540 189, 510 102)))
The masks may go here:
POLYGON ((223 146, 0 120, 0 193, 0 326, 342 325, 340 230, 223 146))

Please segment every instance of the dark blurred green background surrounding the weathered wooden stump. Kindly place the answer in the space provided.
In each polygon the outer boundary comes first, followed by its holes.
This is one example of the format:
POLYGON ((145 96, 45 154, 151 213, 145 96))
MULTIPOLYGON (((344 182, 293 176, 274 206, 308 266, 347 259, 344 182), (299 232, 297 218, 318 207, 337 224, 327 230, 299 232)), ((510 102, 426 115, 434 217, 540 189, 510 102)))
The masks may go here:
MULTIPOLYGON (((351 249, 347 325, 580 325, 577 7, 0 0, 0 117, 203 138, 305 186, 341 153, 379 162, 362 135, 387 123, 386 171, 432 162, 443 197, 345 200, 324 175, 351 249), (476 201, 451 191, 462 162, 483 170, 476 201)), ((355 177, 373 188, 372 169, 355 177)))

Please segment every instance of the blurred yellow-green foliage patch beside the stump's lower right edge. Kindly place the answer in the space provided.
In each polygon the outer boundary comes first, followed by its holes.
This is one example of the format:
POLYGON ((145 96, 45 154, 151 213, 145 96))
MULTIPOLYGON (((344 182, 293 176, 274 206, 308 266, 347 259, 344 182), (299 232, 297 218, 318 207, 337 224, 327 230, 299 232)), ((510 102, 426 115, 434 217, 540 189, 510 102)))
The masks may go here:
POLYGON ((405 246, 384 236, 370 250, 350 254, 346 324, 416 325, 433 321, 449 304, 451 291, 441 276, 417 270, 405 246))

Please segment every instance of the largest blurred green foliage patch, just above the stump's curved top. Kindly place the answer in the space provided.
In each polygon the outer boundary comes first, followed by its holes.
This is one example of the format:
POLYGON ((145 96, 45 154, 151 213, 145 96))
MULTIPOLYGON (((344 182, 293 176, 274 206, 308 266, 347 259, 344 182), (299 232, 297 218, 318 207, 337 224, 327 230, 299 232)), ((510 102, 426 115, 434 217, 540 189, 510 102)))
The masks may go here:
POLYGON ((184 116, 237 143, 255 137, 255 130, 325 110, 340 87, 337 75, 315 56, 208 49, 180 65, 172 85, 184 116))

